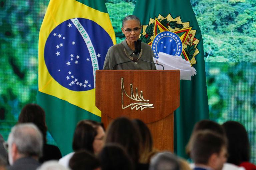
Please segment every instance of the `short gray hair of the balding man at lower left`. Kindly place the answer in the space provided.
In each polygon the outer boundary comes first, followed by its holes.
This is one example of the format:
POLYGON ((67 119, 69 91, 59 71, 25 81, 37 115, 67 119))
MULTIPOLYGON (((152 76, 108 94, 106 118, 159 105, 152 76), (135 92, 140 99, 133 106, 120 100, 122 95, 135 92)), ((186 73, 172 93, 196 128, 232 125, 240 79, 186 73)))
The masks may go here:
POLYGON ((8 145, 15 143, 20 154, 41 156, 43 137, 39 129, 32 123, 18 124, 11 129, 8 145))

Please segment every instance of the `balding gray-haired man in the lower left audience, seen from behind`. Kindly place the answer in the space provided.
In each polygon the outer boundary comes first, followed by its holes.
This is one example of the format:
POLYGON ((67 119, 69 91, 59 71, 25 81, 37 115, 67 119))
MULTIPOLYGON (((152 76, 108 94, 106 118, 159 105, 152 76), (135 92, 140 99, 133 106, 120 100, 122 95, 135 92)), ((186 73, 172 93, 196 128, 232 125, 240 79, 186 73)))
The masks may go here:
POLYGON ((39 129, 31 123, 19 124, 8 136, 8 170, 35 170, 40 164, 43 138, 39 129))

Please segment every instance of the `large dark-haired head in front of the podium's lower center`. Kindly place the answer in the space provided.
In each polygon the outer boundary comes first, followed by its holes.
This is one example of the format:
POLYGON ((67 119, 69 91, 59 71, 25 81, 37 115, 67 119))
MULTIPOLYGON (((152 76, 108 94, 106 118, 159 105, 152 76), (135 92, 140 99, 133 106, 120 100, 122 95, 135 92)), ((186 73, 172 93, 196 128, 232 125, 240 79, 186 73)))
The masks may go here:
POLYGON ((140 159, 140 141, 137 127, 132 121, 125 117, 115 119, 109 126, 106 134, 106 144, 118 143, 132 158, 134 163, 140 159))

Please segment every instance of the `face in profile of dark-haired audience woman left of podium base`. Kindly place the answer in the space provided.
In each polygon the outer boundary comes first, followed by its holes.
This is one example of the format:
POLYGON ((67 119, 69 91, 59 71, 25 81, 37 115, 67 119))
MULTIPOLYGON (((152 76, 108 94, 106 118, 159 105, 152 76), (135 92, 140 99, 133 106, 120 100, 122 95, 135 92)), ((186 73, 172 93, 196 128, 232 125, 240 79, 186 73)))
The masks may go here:
POLYGON ((93 144, 92 144, 94 154, 97 154, 101 151, 103 144, 104 144, 103 143, 104 136, 105 136, 105 132, 104 132, 103 128, 101 126, 99 126, 97 128, 97 135, 95 136, 93 144))

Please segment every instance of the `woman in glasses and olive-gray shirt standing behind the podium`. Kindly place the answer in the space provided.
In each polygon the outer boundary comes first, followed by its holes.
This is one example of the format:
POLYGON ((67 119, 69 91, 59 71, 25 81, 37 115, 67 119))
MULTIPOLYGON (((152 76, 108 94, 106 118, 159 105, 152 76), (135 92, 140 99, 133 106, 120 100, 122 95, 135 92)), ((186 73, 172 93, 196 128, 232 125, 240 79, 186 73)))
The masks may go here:
POLYGON ((138 17, 129 15, 122 21, 125 40, 108 49, 103 70, 155 70, 151 47, 141 42, 141 23, 138 17), (144 61, 143 61, 144 60, 144 61), (149 62, 147 62, 149 61, 149 62))

